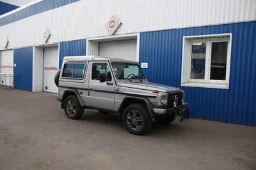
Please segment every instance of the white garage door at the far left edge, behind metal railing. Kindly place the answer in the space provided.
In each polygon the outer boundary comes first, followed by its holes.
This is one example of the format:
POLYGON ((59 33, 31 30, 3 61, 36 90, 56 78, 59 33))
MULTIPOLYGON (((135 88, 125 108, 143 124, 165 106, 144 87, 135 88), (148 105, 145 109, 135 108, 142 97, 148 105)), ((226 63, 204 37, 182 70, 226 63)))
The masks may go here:
MULTIPOLYGON (((13 50, 1 51, 1 73, 13 74, 13 50)), ((1 84, 13 85, 13 78, 1 76, 1 84)))

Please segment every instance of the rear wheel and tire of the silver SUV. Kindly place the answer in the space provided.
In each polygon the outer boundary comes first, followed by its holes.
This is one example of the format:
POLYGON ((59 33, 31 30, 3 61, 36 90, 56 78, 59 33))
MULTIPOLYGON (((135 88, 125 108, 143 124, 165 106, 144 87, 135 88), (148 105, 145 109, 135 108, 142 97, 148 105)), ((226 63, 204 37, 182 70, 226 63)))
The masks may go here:
POLYGON ((80 105, 79 101, 74 95, 70 95, 65 99, 64 111, 68 118, 74 120, 80 119, 84 114, 84 108, 80 105), (70 105, 72 105, 72 109, 69 107, 70 105))

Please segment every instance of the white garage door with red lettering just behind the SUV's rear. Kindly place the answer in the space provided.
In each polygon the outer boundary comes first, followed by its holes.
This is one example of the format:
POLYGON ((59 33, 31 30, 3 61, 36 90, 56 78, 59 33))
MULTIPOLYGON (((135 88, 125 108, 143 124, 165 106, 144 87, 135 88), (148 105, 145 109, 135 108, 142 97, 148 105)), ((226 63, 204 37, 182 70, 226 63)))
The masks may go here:
POLYGON ((44 91, 57 93, 54 76, 58 71, 58 46, 44 48, 44 91))

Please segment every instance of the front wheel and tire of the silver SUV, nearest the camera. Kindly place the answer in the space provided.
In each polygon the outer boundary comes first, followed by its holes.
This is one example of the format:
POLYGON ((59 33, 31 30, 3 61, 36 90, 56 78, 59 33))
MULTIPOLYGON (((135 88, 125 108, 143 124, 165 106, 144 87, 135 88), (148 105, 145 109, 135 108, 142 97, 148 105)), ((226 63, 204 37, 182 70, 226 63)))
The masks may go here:
POLYGON ((147 108, 142 104, 131 104, 128 106, 124 110, 122 120, 125 129, 131 134, 147 134, 152 126, 152 118, 148 115, 147 108))

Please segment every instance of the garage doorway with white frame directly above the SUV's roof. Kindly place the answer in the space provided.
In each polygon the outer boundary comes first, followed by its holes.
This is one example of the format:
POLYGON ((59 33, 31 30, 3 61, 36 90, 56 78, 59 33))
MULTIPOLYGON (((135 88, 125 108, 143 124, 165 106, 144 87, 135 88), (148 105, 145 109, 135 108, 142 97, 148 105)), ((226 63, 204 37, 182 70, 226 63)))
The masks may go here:
POLYGON ((140 34, 87 39, 86 55, 139 61, 140 34))

